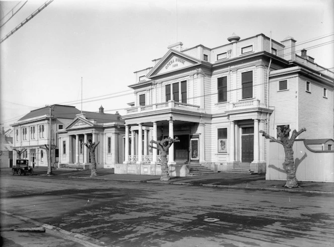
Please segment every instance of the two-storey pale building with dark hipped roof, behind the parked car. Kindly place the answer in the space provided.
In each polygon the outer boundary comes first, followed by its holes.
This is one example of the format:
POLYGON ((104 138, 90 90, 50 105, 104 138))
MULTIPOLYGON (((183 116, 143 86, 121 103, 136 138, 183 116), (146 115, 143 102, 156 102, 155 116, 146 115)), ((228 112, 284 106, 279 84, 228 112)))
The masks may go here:
MULTIPOLYGON (((19 151, 26 149, 21 159, 29 160, 32 166, 48 166, 47 151, 41 147, 49 145, 51 137, 51 144, 56 146, 52 150, 52 165, 56 166, 59 161, 57 131, 67 127, 78 113, 80 111, 74 106, 59 104, 30 111, 12 125, 13 148, 19 151)), ((16 151, 13 152, 13 159, 14 163, 19 159, 16 151)))

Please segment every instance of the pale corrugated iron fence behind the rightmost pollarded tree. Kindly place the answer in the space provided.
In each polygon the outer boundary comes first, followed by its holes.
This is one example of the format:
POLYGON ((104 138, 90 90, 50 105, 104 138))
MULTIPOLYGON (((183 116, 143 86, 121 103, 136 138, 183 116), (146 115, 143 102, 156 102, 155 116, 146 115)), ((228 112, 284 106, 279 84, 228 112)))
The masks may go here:
MULTIPOLYGON (((334 151, 312 151, 303 140, 296 140, 293 152, 299 181, 334 182, 334 151)), ((286 180, 284 157, 283 146, 270 142, 267 180, 286 180)))

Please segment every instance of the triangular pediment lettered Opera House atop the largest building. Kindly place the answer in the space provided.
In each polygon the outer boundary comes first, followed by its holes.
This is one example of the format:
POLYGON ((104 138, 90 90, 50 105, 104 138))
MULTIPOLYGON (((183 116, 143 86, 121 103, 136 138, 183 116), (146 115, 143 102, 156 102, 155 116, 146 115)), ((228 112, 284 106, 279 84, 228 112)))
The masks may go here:
POLYGON ((160 61, 152 68, 146 77, 150 78, 153 76, 162 75, 200 63, 201 61, 198 59, 192 58, 186 54, 183 54, 182 52, 171 49, 160 59, 160 61))

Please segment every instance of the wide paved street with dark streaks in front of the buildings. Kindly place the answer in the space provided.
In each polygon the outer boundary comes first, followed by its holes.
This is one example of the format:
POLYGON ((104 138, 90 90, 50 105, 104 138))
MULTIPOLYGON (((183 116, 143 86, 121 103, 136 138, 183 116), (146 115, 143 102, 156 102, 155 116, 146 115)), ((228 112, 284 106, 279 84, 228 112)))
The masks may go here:
POLYGON ((1 179, 3 211, 101 246, 334 245, 332 195, 56 176, 1 179), (205 221, 210 218, 217 221, 205 221))

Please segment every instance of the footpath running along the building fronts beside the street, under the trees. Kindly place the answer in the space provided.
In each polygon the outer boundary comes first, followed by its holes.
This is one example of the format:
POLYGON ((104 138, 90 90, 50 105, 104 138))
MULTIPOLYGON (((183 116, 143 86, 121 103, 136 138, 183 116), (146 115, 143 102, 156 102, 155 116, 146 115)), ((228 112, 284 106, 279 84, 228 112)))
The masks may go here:
MULTIPOLYGON (((34 176, 45 176, 47 168, 35 168, 34 176)), ((1 174, 11 174, 10 168, 1 169, 1 174)), ((271 190, 271 191, 285 191, 297 193, 317 193, 317 194, 332 194, 334 195, 334 183, 329 182, 308 182, 299 181, 298 188, 286 188, 285 180, 266 180, 265 174, 245 174, 245 173, 227 173, 218 172, 207 175, 193 176, 193 177, 171 177, 169 181, 160 181, 160 176, 149 175, 126 175, 114 174, 114 169, 97 169, 98 176, 90 178, 90 170, 85 171, 67 171, 54 170, 54 176, 65 176, 68 178, 79 179, 103 179, 103 180, 117 180, 117 181, 133 181, 143 183, 161 183, 174 185, 193 185, 193 186, 207 186, 217 188, 230 189, 248 189, 248 190, 271 190)), ((14 176, 18 176, 17 174, 14 176)), ((27 175, 29 176, 29 175, 27 175)), ((298 177, 297 177, 298 178, 298 177)))

